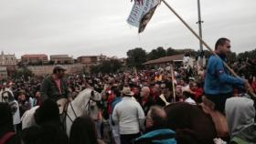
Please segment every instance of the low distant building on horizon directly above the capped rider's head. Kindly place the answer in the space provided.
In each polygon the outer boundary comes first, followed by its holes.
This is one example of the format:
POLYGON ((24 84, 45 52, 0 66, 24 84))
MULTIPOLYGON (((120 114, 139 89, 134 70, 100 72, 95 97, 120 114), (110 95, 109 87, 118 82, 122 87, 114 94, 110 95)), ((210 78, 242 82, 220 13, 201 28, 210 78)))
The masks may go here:
POLYGON ((54 64, 73 64, 74 59, 68 55, 51 55, 50 61, 53 61, 54 64))

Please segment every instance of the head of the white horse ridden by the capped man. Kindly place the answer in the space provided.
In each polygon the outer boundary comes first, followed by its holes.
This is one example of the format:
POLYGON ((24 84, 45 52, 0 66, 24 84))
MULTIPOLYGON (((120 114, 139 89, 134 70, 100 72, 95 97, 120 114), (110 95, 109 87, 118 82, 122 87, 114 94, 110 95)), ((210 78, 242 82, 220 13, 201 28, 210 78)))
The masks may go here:
POLYGON ((82 115, 97 119, 101 106, 101 93, 91 88, 86 88, 80 92, 72 104, 80 108, 82 115))

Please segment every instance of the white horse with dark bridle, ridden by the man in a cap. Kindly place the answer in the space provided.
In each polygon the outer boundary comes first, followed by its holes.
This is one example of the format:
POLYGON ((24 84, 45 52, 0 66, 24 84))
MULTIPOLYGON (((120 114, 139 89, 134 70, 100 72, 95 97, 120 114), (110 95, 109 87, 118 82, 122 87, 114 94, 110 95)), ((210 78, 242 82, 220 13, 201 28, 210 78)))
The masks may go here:
MULTIPOLYGON (((80 92, 80 94, 75 98, 67 108, 67 114, 65 118, 66 122, 66 132, 69 135, 69 131, 73 121, 81 116, 90 116, 94 120, 98 119, 100 108, 97 106, 97 103, 101 102, 101 93, 96 92, 91 88, 86 88, 80 92)), ((34 113, 36 112, 35 108, 31 108, 25 112, 22 120, 22 129, 26 129, 33 125, 37 125, 34 119, 34 113)))

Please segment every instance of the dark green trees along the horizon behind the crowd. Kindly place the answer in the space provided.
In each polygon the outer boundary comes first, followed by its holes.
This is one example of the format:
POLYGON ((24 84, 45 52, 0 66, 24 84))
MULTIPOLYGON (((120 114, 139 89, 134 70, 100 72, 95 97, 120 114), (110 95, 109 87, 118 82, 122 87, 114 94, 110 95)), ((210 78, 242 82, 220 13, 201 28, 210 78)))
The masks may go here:
MULTIPOLYGON (((133 69, 136 67, 138 69, 144 68, 144 63, 148 60, 157 59, 160 57, 168 57, 179 54, 189 54, 191 57, 200 57, 204 55, 207 59, 210 57, 211 53, 208 50, 203 52, 195 51, 194 49, 174 49, 172 47, 164 48, 163 46, 158 46, 157 48, 146 52, 142 47, 135 47, 127 51, 127 59, 123 64, 118 59, 111 59, 102 61, 99 65, 91 66, 91 73, 116 73, 122 72, 124 69, 133 69)), ((240 54, 230 53, 228 58, 229 65, 234 62, 244 62, 248 59, 255 60, 256 62, 256 48, 251 51, 245 51, 240 54)), ((32 77, 32 72, 27 69, 27 67, 21 65, 18 70, 13 74, 12 77, 32 77)))

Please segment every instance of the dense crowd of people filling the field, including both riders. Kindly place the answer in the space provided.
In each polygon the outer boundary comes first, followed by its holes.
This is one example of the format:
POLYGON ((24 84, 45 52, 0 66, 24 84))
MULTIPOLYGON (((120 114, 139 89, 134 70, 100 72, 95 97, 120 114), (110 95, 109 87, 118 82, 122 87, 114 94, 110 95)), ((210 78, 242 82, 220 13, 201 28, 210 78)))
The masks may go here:
MULTIPOLYGON (((219 46, 227 45, 230 48, 228 42, 228 39, 222 39, 217 43, 216 51, 219 46)), ((219 56, 225 60, 221 50, 219 56)), ((110 143, 105 140, 104 128, 96 126, 102 120, 108 121, 110 126, 111 143, 186 143, 176 139, 175 130, 167 129, 163 107, 174 102, 197 106, 206 94, 216 104, 216 109, 226 114, 230 142, 240 144, 238 141, 243 140, 256 143, 253 100, 229 99, 231 95, 239 97, 245 94, 244 87, 250 87, 248 85, 256 92, 256 72, 252 72, 248 80, 235 79, 227 74, 227 69, 218 60, 211 57, 208 67, 174 67, 173 72, 170 67, 162 67, 117 74, 73 74, 66 77, 65 67, 57 66, 52 75, 47 77, 3 82, 1 94, 4 96, 6 89, 10 89, 7 96, 14 98, 17 107, 0 103, 0 144, 110 143), (217 73, 215 65, 219 65, 217 73), (232 87, 227 84, 232 84, 232 87), (233 86, 237 87, 233 90, 233 86), (101 93, 101 114, 98 121, 88 116, 76 118, 68 137, 60 122, 56 101, 59 98, 72 101, 85 88, 93 88, 101 93), (240 103, 236 105, 237 101, 240 103), (40 106, 35 114, 37 126, 21 129, 23 114, 37 106, 40 106), (239 114, 247 119, 242 119, 239 114)))

